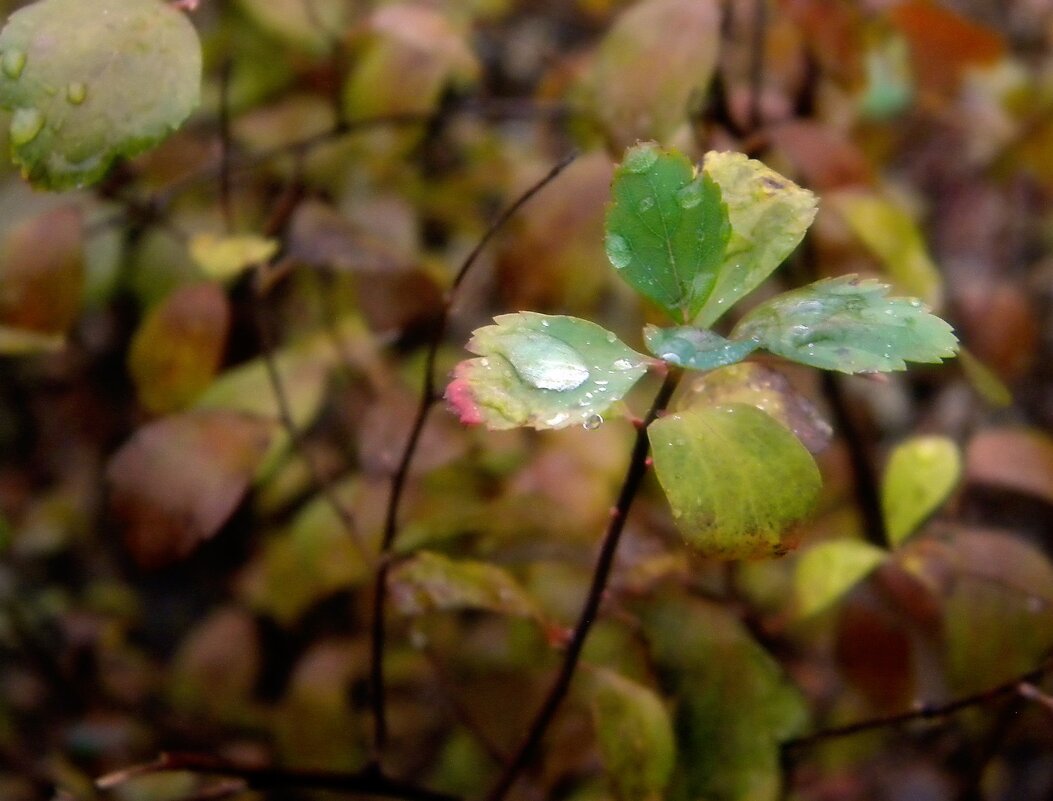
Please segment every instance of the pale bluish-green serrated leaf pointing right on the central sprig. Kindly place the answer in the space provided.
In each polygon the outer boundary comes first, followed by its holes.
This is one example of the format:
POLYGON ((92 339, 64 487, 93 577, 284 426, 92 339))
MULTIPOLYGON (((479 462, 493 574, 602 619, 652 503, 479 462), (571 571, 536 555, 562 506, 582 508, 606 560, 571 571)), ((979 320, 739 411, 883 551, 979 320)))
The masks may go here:
POLYGON ((841 373, 906 369, 908 361, 954 356, 951 326, 913 298, 887 298, 887 284, 857 276, 816 281, 761 303, 735 326, 791 361, 841 373))

